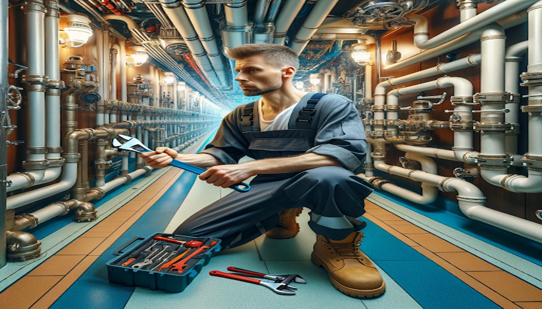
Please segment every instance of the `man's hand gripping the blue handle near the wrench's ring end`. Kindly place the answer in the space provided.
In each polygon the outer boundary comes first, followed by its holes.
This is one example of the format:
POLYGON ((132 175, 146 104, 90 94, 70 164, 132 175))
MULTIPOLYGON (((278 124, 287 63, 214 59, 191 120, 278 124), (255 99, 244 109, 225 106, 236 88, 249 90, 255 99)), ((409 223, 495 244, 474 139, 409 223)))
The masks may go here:
POLYGON ((216 165, 199 175, 199 179, 222 188, 246 181, 255 176, 254 169, 246 164, 216 165))

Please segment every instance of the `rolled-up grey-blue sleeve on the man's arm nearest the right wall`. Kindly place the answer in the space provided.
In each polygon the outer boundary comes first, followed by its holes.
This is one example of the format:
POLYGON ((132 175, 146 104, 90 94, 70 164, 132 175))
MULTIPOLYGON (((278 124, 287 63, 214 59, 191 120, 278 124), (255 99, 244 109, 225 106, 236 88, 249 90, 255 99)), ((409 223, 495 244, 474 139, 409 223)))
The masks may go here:
POLYGON ((335 107, 319 124, 314 145, 306 153, 332 157, 350 171, 364 162, 365 130, 351 101, 335 107))

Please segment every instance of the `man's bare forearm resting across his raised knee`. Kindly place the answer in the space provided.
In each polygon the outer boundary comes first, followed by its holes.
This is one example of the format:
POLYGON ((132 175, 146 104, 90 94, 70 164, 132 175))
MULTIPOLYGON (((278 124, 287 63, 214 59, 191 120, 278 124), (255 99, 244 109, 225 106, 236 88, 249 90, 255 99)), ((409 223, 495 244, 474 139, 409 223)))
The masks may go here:
POLYGON ((313 152, 295 157, 255 160, 240 165, 246 165, 253 175, 301 172, 321 166, 343 166, 332 157, 313 152))

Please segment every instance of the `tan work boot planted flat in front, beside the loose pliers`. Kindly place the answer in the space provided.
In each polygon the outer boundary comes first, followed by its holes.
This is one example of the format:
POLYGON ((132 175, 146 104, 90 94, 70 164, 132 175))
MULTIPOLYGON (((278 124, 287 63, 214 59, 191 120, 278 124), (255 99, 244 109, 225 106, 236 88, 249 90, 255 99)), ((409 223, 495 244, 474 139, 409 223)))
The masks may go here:
POLYGON ((353 297, 375 297, 384 293, 386 284, 382 276, 359 249, 362 232, 352 232, 340 241, 316 236, 312 262, 327 269, 331 284, 339 292, 353 297))

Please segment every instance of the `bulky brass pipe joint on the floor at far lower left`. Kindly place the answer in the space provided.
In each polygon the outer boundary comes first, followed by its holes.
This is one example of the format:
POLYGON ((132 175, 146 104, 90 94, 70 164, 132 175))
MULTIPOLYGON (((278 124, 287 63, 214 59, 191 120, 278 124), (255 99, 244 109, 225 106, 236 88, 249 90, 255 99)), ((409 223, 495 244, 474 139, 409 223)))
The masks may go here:
POLYGON ((6 244, 10 261, 25 261, 41 255, 41 241, 24 231, 7 231, 6 244))

